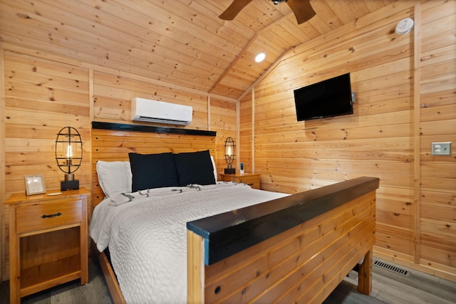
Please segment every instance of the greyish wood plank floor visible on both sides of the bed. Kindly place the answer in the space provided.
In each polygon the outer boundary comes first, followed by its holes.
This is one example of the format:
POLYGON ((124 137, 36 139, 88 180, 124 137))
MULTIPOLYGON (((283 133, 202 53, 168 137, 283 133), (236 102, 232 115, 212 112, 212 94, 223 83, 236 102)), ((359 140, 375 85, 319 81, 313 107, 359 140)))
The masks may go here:
MULTIPOLYGON (((393 264, 391 264, 393 265, 393 264)), ((401 267, 402 268, 402 267, 401 267)), ((357 273, 352 271, 324 304, 450 304, 456 303, 456 283, 434 276, 409 271, 410 276, 394 273, 373 266, 373 291, 371 296, 356 290, 357 273)), ((0 304, 9 303, 9 281, 0 284, 0 304)), ((79 281, 60 285, 41 293, 29 295, 21 303, 79 304, 113 303, 108 293, 103 273, 96 261, 89 259, 89 283, 81 286, 79 281)))

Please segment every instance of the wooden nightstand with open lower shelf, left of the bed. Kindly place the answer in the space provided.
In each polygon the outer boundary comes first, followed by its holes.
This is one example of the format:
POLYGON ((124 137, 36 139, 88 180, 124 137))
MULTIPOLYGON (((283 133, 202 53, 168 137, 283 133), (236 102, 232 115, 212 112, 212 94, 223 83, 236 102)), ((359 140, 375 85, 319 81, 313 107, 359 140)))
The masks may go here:
POLYGON ((11 194, 10 303, 61 283, 88 283, 87 189, 11 194))

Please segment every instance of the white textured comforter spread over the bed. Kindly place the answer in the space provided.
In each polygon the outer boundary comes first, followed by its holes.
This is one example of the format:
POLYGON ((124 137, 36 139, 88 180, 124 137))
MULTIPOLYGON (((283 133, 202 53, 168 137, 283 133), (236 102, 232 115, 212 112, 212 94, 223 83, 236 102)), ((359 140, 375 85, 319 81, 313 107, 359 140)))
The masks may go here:
POLYGON ((127 303, 187 303, 187 221, 286 194, 218 182, 151 189, 145 196, 135 192, 106 198, 90 221, 98 250, 109 246, 127 303))

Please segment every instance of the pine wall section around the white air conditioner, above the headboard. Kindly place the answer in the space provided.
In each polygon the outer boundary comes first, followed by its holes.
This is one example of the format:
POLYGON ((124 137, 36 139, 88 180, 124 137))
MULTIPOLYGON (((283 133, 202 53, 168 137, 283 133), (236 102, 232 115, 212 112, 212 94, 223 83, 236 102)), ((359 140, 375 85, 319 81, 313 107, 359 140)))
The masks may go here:
POLYGON ((217 131, 217 154, 214 157, 218 171, 223 170, 224 140, 229 136, 236 137, 236 103, 219 98, 207 98, 206 95, 195 93, 194 90, 172 90, 165 84, 151 83, 147 78, 132 79, 98 71, 93 73, 93 84, 93 120, 95 121, 141 124, 141 122, 130 121, 130 100, 133 97, 191 105, 193 120, 185 128, 217 131))

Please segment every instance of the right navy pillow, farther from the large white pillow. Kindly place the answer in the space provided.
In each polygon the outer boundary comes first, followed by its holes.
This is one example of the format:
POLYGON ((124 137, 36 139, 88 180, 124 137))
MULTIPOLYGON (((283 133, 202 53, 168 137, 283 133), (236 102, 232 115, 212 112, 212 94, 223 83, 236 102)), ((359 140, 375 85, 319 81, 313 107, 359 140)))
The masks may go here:
POLYGON ((180 186, 215 184, 209 150, 174 154, 180 186))

